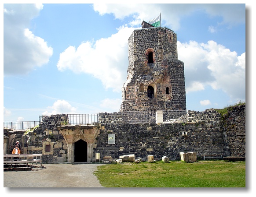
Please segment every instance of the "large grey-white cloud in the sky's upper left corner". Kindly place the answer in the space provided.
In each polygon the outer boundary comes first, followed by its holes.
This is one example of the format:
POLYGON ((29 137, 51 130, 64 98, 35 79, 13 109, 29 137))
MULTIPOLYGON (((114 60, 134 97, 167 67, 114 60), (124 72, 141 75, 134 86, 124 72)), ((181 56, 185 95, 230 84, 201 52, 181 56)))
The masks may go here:
POLYGON ((53 49, 29 30, 42 4, 4 4, 4 74, 27 74, 48 63, 53 49), (29 12, 28 12, 29 10, 29 12))

